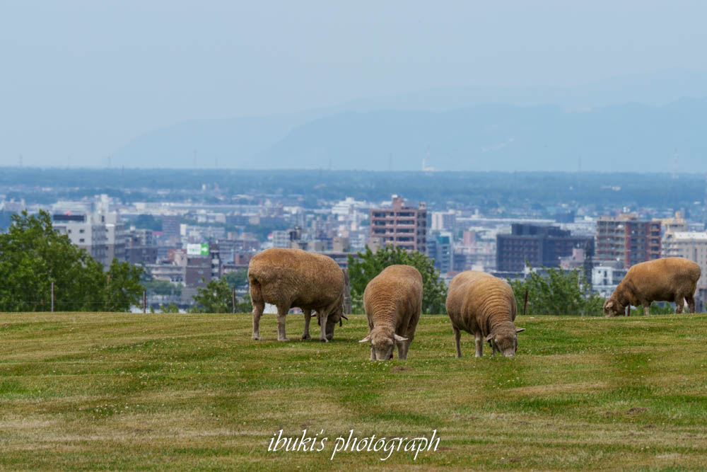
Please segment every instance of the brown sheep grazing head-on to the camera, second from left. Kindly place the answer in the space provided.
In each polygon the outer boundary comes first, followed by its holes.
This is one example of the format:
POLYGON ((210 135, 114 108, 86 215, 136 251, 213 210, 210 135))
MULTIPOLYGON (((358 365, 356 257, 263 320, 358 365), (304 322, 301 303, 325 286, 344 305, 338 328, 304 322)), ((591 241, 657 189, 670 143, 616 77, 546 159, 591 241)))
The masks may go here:
POLYGON ((400 360, 415 337, 422 311, 422 275, 411 265, 390 265, 373 277, 363 291, 363 308, 368 317, 370 360, 392 359, 397 345, 400 360))

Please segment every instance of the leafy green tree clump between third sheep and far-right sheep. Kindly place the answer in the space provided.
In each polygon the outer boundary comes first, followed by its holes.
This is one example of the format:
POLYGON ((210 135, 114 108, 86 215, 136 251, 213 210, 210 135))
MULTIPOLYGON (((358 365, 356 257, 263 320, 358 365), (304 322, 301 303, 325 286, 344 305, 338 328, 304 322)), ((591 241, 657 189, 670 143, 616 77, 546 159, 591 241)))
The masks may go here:
POLYGON ((547 277, 530 272, 525 280, 508 280, 515 294, 518 313, 522 314, 525 292, 528 294, 528 315, 600 316, 604 299, 590 292, 583 272, 565 272, 550 267, 547 277))

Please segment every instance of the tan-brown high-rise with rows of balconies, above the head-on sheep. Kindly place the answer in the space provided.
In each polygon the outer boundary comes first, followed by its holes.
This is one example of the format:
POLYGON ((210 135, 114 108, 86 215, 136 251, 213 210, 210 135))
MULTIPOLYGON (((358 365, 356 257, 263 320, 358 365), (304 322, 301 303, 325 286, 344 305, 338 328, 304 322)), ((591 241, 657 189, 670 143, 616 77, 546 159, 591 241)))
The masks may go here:
POLYGON ((370 210, 369 237, 380 246, 396 246, 407 251, 427 251, 427 209, 424 202, 417 208, 406 207, 402 197, 393 195, 390 209, 370 210))

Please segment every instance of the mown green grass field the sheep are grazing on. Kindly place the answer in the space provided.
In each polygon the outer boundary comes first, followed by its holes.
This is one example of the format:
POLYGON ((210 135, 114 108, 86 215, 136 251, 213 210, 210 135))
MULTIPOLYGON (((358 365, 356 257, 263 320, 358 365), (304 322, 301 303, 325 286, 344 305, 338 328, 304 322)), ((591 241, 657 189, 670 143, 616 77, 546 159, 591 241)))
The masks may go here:
POLYGON ((466 334, 456 359, 448 318, 423 316, 407 362, 370 362, 363 316, 323 344, 298 315, 278 343, 273 315, 255 342, 250 314, 0 313, 0 468, 707 466, 707 315, 517 324, 515 359, 466 334), (322 451, 267 450, 305 428, 322 451), (351 429, 440 442, 330 459, 351 429))

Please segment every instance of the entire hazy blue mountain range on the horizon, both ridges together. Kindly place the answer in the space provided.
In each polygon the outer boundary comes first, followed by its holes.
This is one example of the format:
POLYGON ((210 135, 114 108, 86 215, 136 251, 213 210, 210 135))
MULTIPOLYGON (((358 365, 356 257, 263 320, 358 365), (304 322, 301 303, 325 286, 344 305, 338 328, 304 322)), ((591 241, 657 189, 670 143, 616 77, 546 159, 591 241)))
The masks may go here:
POLYGON ((684 70, 575 88, 447 88, 289 115, 184 122, 113 166, 705 171, 707 77, 684 70), (493 101, 499 103, 480 104, 493 101), (633 100, 633 103, 627 103, 633 100), (676 101, 677 100, 677 101, 676 101), (553 103, 553 105, 544 105, 553 103), (638 103, 644 103, 639 105, 638 103))

